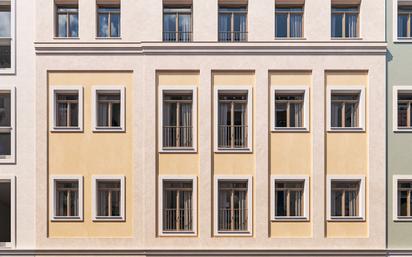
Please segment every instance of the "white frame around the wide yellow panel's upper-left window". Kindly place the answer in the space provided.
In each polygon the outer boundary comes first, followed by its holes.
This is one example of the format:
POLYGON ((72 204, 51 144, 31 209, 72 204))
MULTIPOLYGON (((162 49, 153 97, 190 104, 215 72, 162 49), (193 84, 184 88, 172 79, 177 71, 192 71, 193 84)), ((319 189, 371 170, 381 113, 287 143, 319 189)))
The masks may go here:
POLYGON ((49 92, 50 107, 49 107, 49 129, 52 132, 83 132, 83 87, 82 86, 51 86, 49 92), (58 93, 77 93, 78 95, 78 126, 77 127, 58 127, 56 126, 56 95, 58 93))

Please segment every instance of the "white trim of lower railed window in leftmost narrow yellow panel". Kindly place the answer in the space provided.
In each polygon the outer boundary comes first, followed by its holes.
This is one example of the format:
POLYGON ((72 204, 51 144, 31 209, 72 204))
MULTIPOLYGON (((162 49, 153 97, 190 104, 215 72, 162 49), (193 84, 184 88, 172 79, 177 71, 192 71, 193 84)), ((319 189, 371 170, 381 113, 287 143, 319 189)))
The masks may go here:
POLYGON ((159 176, 159 193, 158 193, 158 210, 159 221, 158 231, 160 236, 197 236, 197 177, 196 176, 159 176), (192 218, 193 218, 193 230, 192 231, 176 231, 176 232, 163 232, 163 181, 175 180, 175 181, 191 181, 192 188, 192 218))

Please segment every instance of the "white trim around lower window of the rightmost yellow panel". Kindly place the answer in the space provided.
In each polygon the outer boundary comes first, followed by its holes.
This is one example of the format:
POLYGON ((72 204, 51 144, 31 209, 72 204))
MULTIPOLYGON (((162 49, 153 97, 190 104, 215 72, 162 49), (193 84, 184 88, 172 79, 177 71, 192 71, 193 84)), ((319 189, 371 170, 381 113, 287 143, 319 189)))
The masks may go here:
POLYGON ((327 176, 326 185, 326 214, 327 221, 365 221, 366 195, 365 176, 327 176), (332 181, 359 181, 359 216, 335 217, 331 215, 332 181))

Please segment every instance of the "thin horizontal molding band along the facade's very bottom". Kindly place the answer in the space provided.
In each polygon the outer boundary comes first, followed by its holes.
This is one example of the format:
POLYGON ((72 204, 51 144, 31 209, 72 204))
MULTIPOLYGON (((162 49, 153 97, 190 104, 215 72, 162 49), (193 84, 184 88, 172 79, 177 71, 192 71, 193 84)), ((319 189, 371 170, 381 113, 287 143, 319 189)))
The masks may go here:
MULTIPOLYGON (((403 251, 403 256, 412 256, 411 251, 403 251)), ((378 257, 389 256, 386 250, 0 250, 0 256, 244 256, 244 257, 378 257)), ((392 253, 393 254, 393 253, 392 253)), ((395 254, 397 255, 397 254, 395 254)))

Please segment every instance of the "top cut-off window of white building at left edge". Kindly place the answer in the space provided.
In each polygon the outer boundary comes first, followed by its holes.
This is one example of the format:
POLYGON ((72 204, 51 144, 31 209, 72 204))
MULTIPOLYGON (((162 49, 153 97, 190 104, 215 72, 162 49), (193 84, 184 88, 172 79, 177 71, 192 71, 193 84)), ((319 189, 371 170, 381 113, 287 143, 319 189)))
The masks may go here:
POLYGON ((0 0, 0 73, 14 70, 14 0, 0 0))

